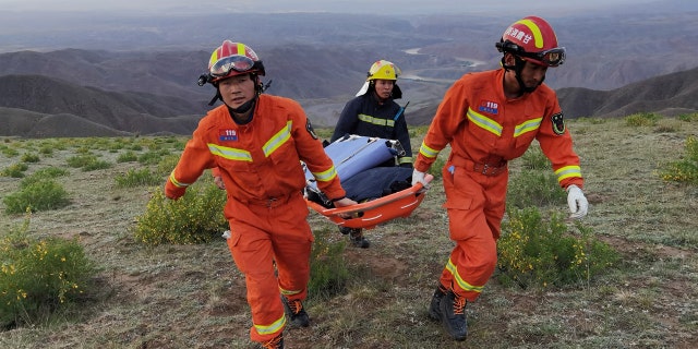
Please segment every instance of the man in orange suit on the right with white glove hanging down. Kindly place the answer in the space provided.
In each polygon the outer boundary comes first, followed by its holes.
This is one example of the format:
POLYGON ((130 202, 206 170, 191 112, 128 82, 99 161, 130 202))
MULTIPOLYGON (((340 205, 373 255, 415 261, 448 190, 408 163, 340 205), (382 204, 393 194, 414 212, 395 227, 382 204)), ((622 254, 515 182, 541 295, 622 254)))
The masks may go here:
POLYGON ((480 296, 497 262, 496 240, 505 213, 507 161, 527 151, 533 140, 552 163, 573 218, 587 214, 588 202, 579 157, 565 128, 557 96, 543 84, 549 67, 565 60, 565 49, 547 22, 527 16, 512 24, 495 45, 502 68, 469 73, 456 81, 420 146, 412 184, 421 182, 438 153, 450 144, 442 170, 456 243, 440 277, 429 314, 448 334, 468 334, 465 306, 480 296))

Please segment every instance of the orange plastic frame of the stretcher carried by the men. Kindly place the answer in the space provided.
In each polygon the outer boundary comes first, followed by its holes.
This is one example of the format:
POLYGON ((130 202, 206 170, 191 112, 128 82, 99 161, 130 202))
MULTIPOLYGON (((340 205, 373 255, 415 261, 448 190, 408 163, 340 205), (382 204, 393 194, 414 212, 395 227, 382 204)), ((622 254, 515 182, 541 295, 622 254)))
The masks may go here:
MULTIPOLYGON (((424 176, 426 182, 434 179, 432 174, 424 176)), ((339 207, 326 208, 325 206, 308 200, 308 207, 314 209, 325 218, 332 220, 338 226, 348 228, 372 229, 375 226, 398 218, 408 217, 414 208, 422 203, 426 190, 421 183, 417 183, 408 189, 401 190, 381 198, 372 200, 365 203, 339 207), (344 218, 350 216, 352 218, 344 218)))

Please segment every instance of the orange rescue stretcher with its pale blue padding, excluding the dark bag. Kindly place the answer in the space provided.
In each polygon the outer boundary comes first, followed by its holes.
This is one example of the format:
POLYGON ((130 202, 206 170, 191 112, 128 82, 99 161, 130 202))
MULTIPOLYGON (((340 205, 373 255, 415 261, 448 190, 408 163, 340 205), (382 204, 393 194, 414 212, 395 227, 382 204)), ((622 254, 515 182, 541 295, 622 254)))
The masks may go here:
MULTIPOLYGON (((348 182, 353 176, 384 164, 395 156, 402 156, 404 152, 398 141, 357 135, 345 136, 325 147, 325 153, 333 159, 342 182, 348 182)), ((348 228, 371 229, 398 217, 408 217, 422 203, 428 190, 421 183, 417 183, 381 197, 366 200, 358 205, 334 208, 317 189, 312 173, 308 168, 304 170, 306 179, 304 197, 308 206, 334 224, 348 228)), ((426 174, 425 180, 431 182, 433 176, 426 174)), ((349 192, 347 196, 351 197, 349 192)))

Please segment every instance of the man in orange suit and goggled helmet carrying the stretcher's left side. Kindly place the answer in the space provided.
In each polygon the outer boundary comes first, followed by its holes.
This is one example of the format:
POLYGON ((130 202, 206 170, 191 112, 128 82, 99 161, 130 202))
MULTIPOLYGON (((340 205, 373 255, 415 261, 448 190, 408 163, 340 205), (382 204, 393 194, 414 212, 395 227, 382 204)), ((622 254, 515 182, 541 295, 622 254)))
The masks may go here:
POLYGON ((165 193, 177 200, 205 169, 218 168, 228 197, 227 243, 245 276, 252 310, 250 338, 265 348, 282 348, 286 325, 309 325, 302 301, 308 294, 313 236, 305 219, 300 161, 335 206, 356 202, 345 197, 332 159, 301 106, 262 94, 264 73, 262 61, 246 45, 225 40, 213 51, 200 85, 216 86, 213 101, 219 98, 224 105, 200 121, 165 193))

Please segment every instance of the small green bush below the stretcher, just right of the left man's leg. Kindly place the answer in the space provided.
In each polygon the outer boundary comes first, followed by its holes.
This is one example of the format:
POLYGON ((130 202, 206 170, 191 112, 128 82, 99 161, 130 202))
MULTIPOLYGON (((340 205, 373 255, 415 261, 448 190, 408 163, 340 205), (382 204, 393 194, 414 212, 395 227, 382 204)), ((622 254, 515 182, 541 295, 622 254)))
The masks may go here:
POLYGON ((344 256, 346 243, 332 241, 327 229, 313 231, 315 241, 310 257, 308 290, 313 297, 333 297, 346 290, 349 269, 344 256))

